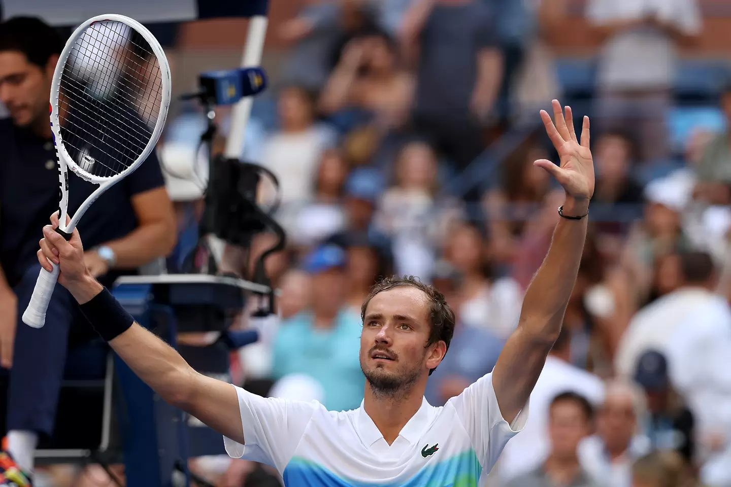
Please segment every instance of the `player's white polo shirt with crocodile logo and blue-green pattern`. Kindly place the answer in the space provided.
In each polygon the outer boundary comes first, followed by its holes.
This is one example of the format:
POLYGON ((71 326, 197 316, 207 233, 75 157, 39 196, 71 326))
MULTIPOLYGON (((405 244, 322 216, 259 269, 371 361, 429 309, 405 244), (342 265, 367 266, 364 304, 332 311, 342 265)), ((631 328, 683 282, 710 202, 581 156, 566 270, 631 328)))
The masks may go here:
POLYGON ((363 404, 336 413, 236 391, 246 445, 224 438, 227 453, 275 467, 291 487, 477 486, 528 417, 526 404, 512 425, 502 418, 488 374, 443 407, 423 399, 389 446, 363 404))

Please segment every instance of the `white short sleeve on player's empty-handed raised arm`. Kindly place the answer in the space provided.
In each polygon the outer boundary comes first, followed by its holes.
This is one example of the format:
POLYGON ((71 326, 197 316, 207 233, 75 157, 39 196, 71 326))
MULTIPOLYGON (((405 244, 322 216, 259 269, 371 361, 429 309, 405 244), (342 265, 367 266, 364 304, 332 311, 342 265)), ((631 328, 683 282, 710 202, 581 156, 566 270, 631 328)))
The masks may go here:
POLYGON ((472 448, 485 471, 493 467, 508 440, 518 434, 528 421, 528 403, 512 424, 505 421, 493 388, 492 373, 481 377, 447 404, 452 404, 457 411, 457 417, 469 434, 472 448))

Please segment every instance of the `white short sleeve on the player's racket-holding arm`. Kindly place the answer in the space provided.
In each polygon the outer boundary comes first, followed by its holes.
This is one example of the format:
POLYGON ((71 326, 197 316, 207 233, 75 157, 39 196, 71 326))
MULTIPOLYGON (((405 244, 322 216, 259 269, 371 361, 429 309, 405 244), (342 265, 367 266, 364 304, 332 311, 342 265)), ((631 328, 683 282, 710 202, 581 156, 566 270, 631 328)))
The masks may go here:
POLYGON ((226 453, 235 459, 258 461, 284 472, 295 453, 318 402, 265 398, 233 386, 246 445, 224 437, 226 453))

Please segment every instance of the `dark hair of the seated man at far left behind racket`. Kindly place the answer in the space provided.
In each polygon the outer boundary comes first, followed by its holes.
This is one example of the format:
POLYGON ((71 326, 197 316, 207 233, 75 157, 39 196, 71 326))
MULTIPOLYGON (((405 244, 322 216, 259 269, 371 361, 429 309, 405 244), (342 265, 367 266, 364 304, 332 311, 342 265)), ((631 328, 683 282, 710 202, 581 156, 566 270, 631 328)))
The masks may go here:
POLYGON ((36 17, 13 17, 0 23, 0 51, 15 50, 40 67, 61 54, 64 41, 55 28, 36 17))

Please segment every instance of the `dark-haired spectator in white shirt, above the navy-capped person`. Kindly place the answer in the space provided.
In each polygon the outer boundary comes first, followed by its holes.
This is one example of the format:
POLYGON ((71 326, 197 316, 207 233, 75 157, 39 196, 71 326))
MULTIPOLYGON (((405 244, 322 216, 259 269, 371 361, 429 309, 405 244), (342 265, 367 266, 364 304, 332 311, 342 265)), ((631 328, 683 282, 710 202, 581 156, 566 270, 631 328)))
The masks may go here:
POLYGON ((681 287, 638 311, 624 331, 614 361, 619 375, 632 377, 640 356, 647 350, 667 353, 673 334, 719 300, 713 292, 716 272, 710 256, 683 253, 680 261, 681 287))

